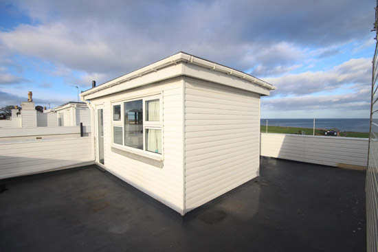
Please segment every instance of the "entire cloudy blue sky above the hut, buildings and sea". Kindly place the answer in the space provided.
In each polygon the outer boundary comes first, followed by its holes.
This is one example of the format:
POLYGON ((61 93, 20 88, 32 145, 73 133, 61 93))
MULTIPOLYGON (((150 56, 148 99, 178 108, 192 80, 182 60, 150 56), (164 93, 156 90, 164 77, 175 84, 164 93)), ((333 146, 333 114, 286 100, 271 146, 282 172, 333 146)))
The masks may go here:
POLYGON ((274 86, 261 118, 368 118, 375 0, 0 0, 0 107, 54 107, 179 51, 274 86), (78 88, 76 88, 78 87, 78 88))

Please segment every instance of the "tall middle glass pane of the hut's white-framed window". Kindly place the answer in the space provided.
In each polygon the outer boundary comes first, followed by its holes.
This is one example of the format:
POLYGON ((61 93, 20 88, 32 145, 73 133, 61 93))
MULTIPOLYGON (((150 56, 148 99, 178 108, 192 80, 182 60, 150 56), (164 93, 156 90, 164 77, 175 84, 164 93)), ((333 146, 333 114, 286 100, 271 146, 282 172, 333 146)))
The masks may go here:
POLYGON ((143 102, 124 103, 124 145, 143 150, 143 102))

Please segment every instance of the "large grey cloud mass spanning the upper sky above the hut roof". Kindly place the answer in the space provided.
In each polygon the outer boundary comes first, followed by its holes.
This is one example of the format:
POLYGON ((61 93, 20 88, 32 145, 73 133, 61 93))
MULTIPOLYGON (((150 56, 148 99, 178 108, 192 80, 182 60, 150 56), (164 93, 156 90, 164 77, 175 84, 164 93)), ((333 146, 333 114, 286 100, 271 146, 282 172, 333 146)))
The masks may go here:
POLYGON ((177 51, 253 69, 256 76, 276 75, 306 56, 298 48, 366 37, 374 20, 373 5, 353 0, 16 3, 41 25, 2 32, 8 49, 109 76, 177 51))

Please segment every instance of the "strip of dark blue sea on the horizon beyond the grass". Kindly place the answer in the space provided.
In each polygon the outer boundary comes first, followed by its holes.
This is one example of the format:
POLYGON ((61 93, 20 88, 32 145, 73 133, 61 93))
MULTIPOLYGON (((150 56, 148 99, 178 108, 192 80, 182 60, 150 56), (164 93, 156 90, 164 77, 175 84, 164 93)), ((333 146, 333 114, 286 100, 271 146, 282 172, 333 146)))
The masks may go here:
MULTIPOLYGON (((300 127, 313 128, 313 119, 261 119, 260 124, 266 126, 285 126, 285 127, 300 127)), ((331 128, 338 128, 340 131, 351 132, 369 132, 370 119, 368 118, 315 118, 315 128, 323 128, 329 130, 331 128)))

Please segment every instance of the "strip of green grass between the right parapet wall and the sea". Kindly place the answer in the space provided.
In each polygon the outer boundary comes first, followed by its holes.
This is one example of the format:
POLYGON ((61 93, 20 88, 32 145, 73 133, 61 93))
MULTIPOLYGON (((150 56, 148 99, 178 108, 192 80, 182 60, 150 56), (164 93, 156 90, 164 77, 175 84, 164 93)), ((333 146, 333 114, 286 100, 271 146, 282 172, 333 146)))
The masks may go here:
MULTIPOLYGON (((265 133, 267 126, 262 125, 260 127, 260 132, 265 133)), ((281 126, 268 126, 268 133, 281 133, 281 134, 300 134, 303 135, 313 135, 312 128, 294 128, 294 127, 281 127, 281 126)), ((324 129, 315 128, 315 135, 324 135, 324 129)), ((359 137, 359 138, 369 138, 369 133, 367 132, 340 132, 340 137, 359 137)))

